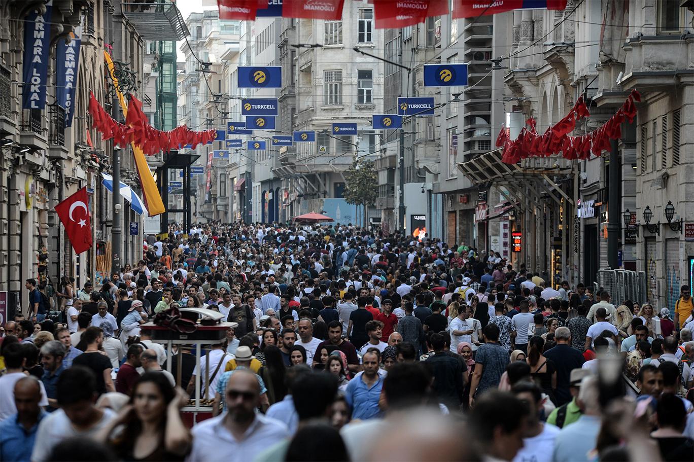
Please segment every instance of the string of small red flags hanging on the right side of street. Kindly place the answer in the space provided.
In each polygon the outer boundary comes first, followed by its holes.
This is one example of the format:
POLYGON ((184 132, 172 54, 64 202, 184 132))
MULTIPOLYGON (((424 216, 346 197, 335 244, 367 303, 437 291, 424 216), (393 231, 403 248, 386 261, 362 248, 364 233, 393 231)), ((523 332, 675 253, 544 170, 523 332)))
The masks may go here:
POLYGON ((610 150, 610 139, 622 137, 622 123, 625 120, 629 123, 634 121, 636 117, 634 101, 641 101, 641 94, 635 89, 629 94, 622 107, 600 128, 577 137, 568 136, 568 133, 573 131, 577 121, 591 115, 583 96, 576 101, 564 119, 555 126, 548 127, 542 135, 536 132, 535 121, 532 118, 526 122, 530 129, 521 128, 516 139, 511 139, 508 129, 502 127, 496 138, 496 146, 499 148, 503 146, 501 160, 505 164, 516 164, 528 157, 549 157, 559 153, 569 160, 587 160, 591 157, 591 153, 599 156, 602 151, 610 150))

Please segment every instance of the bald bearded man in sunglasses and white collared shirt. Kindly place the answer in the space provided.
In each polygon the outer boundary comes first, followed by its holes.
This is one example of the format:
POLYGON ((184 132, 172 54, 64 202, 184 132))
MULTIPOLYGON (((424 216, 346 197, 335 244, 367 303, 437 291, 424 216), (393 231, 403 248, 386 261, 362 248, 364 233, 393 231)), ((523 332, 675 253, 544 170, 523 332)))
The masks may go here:
POLYGON ((188 462, 253 461, 269 445, 289 438, 287 425, 256 413, 260 406, 260 384, 255 374, 239 370, 227 383, 228 411, 195 425, 188 462))

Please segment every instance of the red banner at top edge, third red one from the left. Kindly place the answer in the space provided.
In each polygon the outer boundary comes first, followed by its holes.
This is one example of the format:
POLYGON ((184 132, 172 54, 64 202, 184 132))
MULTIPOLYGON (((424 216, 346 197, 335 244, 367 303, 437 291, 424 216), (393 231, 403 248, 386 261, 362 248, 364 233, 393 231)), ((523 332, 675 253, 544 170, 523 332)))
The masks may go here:
POLYGON ((448 15, 448 1, 378 0, 373 3, 377 29, 414 26, 431 16, 448 15))

